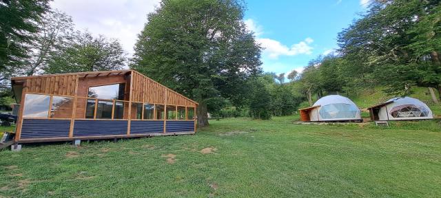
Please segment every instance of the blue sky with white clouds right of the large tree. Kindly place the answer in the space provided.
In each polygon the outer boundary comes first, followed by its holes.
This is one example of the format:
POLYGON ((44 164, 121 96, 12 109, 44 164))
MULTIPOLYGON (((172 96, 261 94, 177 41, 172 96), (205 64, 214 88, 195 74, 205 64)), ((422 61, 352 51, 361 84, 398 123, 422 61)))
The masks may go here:
POLYGON ((244 21, 266 48, 262 56, 265 72, 300 72, 312 58, 338 47, 338 32, 365 10, 366 2, 247 0, 244 21))

